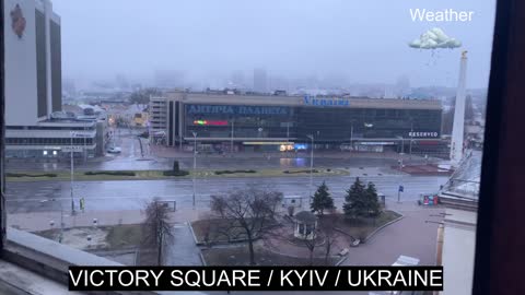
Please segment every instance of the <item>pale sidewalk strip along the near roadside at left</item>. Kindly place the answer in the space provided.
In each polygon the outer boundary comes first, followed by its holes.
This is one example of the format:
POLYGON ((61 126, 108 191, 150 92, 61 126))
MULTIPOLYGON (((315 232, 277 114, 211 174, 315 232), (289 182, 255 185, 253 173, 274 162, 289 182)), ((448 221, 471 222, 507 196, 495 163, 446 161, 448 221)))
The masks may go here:
MULTIPOLYGON (((171 214, 173 223, 185 223, 198 220, 205 213, 203 210, 182 209, 171 214)), ((117 225, 117 224, 137 224, 144 220, 141 210, 121 210, 121 211, 91 211, 77 212, 71 216, 71 212, 65 211, 63 223, 65 228, 93 226, 94 219, 98 226, 117 225)), ((36 213, 15 213, 8 215, 8 226, 22 231, 37 232, 60 227, 60 212, 36 212, 36 213), (50 222, 54 222, 51 227, 50 222)))

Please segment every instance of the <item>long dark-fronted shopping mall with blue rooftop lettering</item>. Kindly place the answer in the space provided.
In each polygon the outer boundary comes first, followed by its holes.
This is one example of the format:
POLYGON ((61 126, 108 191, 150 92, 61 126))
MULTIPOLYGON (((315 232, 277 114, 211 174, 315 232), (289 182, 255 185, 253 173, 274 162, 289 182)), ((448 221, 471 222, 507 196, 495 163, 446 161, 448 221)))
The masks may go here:
POLYGON ((228 152, 332 149, 446 154, 442 106, 380 99, 171 92, 150 99, 156 143, 228 152), (312 139, 313 138, 313 139, 312 139))

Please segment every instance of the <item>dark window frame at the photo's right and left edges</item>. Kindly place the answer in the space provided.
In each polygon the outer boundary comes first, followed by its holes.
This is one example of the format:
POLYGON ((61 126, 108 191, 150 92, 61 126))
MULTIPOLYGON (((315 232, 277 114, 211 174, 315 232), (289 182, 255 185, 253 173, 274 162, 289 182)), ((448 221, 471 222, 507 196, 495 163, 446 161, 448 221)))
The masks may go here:
MULTIPOLYGON (((0 64, 4 64, 4 2, 0 1, 0 64)), ((525 294, 523 264, 525 232, 516 222, 523 215, 525 180, 525 1, 497 1, 487 123, 476 233, 475 294, 525 294), (520 182, 521 181, 521 182, 520 182), (511 243, 512 240, 512 243, 511 243)), ((4 197, 4 71, 0 70, 0 255, 7 236, 4 197)))

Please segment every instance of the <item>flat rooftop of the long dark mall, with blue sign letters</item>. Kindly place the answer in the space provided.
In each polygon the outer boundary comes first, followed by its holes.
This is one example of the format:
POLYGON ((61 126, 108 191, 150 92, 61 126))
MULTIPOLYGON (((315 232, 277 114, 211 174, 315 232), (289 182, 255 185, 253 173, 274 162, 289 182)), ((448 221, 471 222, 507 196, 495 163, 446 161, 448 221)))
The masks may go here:
POLYGON ((258 106, 303 106, 330 108, 389 108, 389 109, 435 109, 441 110, 438 99, 369 98, 307 95, 223 94, 197 92, 167 92, 152 101, 179 101, 185 104, 213 105, 258 105, 258 106))

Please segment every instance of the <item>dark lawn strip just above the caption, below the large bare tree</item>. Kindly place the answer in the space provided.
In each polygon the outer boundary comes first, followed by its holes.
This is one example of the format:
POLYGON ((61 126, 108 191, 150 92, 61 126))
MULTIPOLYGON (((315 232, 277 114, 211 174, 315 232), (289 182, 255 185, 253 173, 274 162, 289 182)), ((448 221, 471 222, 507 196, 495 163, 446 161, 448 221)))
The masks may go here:
MULTIPOLYGON (((248 266, 249 252, 247 246, 210 248, 202 250, 207 266, 248 266)), ((307 258, 295 258, 271 252, 264 247, 255 246, 255 260, 258 266, 310 266, 307 258)), ((334 266, 338 258, 329 258, 328 263, 334 266)), ((314 264, 325 264, 324 258, 314 259, 314 264)))

